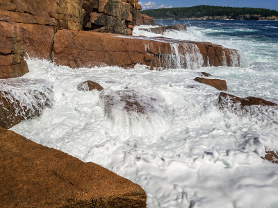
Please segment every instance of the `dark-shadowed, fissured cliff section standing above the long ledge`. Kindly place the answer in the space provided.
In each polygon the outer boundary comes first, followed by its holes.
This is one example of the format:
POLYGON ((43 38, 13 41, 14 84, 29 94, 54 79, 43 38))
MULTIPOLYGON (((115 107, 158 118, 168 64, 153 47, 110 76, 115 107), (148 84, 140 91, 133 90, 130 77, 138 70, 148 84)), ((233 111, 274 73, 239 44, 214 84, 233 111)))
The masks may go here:
POLYGON ((83 28, 132 35, 137 10, 138 0, 83 0, 83 28))

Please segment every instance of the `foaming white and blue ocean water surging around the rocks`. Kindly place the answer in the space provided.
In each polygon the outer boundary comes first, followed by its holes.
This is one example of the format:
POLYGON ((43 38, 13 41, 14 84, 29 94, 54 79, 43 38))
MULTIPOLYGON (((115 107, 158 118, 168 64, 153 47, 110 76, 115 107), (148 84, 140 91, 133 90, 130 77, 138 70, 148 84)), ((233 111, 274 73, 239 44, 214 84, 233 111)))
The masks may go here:
MULTIPOLYGON (((265 149, 278 150, 278 108, 219 110, 220 92, 193 80, 205 71, 227 80, 230 94, 278 103, 278 21, 159 23, 186 23, 187 31, 164 36, 238 49, 242 64, 149 71, 141 65, 70 69, 29 59, 23 78, 48 89, 51 105, 12 130, 140 184, 149 208, 278 207, 278 165, 261 159, 265 149), (84 80, 104 91, 78 91, 84 80), (144 114, 126 110, 128 99, 144 114)), ((135 35, 158 36, 140 27, 135 35)), ((28 82, 18 83, 0 88, 32 94, 28 82)))

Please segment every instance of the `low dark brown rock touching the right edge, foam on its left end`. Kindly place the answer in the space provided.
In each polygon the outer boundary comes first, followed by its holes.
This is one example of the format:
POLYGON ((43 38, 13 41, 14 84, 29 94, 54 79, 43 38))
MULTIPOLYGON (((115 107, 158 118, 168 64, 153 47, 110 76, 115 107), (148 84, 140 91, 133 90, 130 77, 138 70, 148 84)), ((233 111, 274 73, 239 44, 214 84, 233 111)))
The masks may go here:
POLYGON ((219 95, 220 109, 229 107, 232 111, 241 110, 245 106, 262 105, 262 106, 275 106, 276 103, 265 101, 262 98, 246 97, 240 98, 231 94, 221 92, 219 95))

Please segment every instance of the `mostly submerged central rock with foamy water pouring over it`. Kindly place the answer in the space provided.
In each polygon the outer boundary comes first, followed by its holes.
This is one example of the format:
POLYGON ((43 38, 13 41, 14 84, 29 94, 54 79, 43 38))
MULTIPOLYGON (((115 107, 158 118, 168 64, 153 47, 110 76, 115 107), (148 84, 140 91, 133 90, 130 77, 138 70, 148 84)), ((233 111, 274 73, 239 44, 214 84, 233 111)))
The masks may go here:
POLYGON ((124 135, 156 135, 165 129, 167 106, 156 92, 133 89, 101 92, 104 112, 113 132, 124 135))

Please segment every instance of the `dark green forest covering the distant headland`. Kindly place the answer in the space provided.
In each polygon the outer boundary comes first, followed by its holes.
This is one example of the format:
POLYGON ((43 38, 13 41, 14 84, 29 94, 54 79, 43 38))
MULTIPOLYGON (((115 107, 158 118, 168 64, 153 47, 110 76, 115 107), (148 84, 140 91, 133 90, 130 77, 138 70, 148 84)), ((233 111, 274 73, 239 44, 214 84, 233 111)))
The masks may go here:
POLYGON ((142 14, 154 17, 154 19, 186 19, 204 16, 238 16, 261 15, 261 17, 278 16, 277 10, 263 8, 237 8, 229 6, 193 6, 183 8, 161 8, 156 10, 142 10, 142 14))

